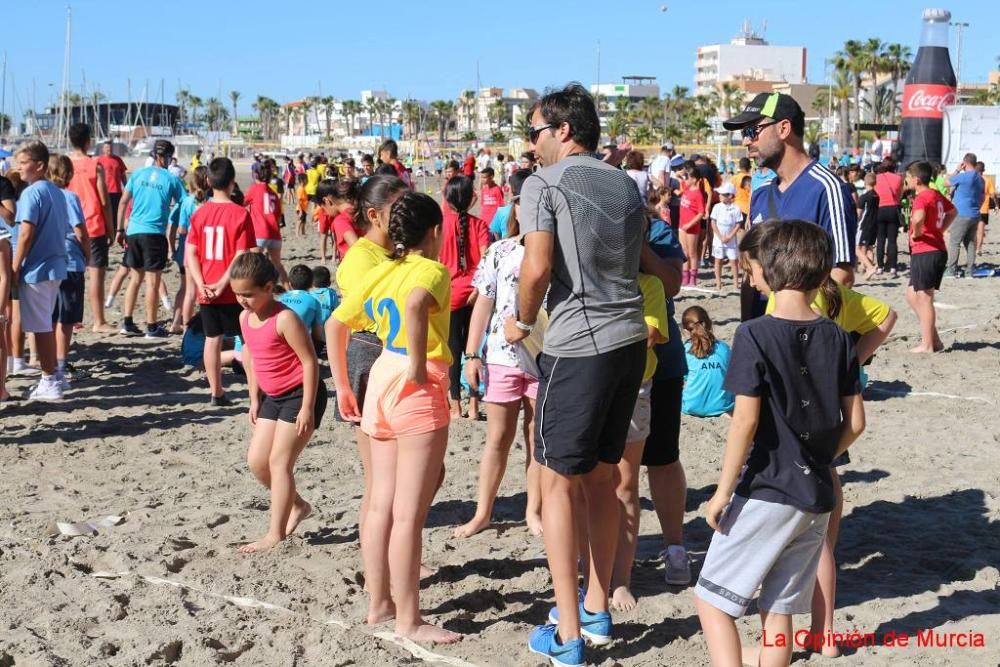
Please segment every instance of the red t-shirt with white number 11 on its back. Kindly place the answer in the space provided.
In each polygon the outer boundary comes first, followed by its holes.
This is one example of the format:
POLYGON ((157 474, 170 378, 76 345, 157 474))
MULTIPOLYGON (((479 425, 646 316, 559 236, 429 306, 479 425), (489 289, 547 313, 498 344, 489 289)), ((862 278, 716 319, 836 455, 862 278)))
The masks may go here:
MULTIPOLYGON (((267 186, 265 186, 267 187, 267 186)), ((187 244, 196 249, 198 266, 206 285, 218 282, 229 265, 236 259, 236 253, 257 247, 253 223, 245 208, 233 202, 207 201, 191 216, 187 244)), ((198 303, 236 303, 236 295, 229 285, 208 301, 201 294, 198 303)))

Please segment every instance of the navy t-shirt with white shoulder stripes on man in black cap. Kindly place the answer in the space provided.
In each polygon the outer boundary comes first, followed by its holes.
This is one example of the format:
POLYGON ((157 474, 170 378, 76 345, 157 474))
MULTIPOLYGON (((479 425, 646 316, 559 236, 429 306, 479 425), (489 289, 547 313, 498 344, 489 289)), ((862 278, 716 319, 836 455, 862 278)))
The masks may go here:
MULTIPOLYGON (((815 222, 830 236, 835 264, 854 264, 858 212, 851 197, 854 186, 813 160, 784 192, 777 177, 750 195, 750 222, 771 218, 815 222), (774 213, 770 200, 773 197, 774 213)), ((978 204, 977 204, 978 206, 978 204)))

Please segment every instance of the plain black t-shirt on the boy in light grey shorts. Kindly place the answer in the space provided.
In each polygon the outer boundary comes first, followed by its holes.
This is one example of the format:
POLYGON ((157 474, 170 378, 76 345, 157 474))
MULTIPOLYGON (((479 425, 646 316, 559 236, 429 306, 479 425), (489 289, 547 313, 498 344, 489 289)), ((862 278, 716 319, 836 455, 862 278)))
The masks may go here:
POLYGON ((828 319, 768 315, 740 325, 724 386, 759 396, 761 408, 736 494, 804 512, 831 511, 840 399, 861 392, 858 374, 850 336, 828 319))

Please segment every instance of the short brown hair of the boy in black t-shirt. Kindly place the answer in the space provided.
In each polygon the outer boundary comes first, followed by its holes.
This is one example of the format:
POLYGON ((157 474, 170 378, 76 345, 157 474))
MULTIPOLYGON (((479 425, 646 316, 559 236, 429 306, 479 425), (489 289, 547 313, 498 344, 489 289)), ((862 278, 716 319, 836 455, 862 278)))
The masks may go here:
POLYGON ((761 239, 757 255, 764 280, 775 292, 819 289, 833 268, 830 237, 819 225, 785 220, 761 239))

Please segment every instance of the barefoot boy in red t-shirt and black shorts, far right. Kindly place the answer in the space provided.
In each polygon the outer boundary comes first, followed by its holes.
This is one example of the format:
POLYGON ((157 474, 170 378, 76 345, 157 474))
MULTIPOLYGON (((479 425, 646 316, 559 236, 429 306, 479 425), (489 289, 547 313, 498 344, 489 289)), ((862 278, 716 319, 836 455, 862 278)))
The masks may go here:
POLYGON ((910 286, 906 301, 920 321, 920 345, 911 352, 940 352, 934 313, 934 290, 948 264, 944 233, 955 219, 955 207, 930 187, 934 169, 929 162, 914 162, 906 170, 906 186, 916 190, 910 214, 910 286))

